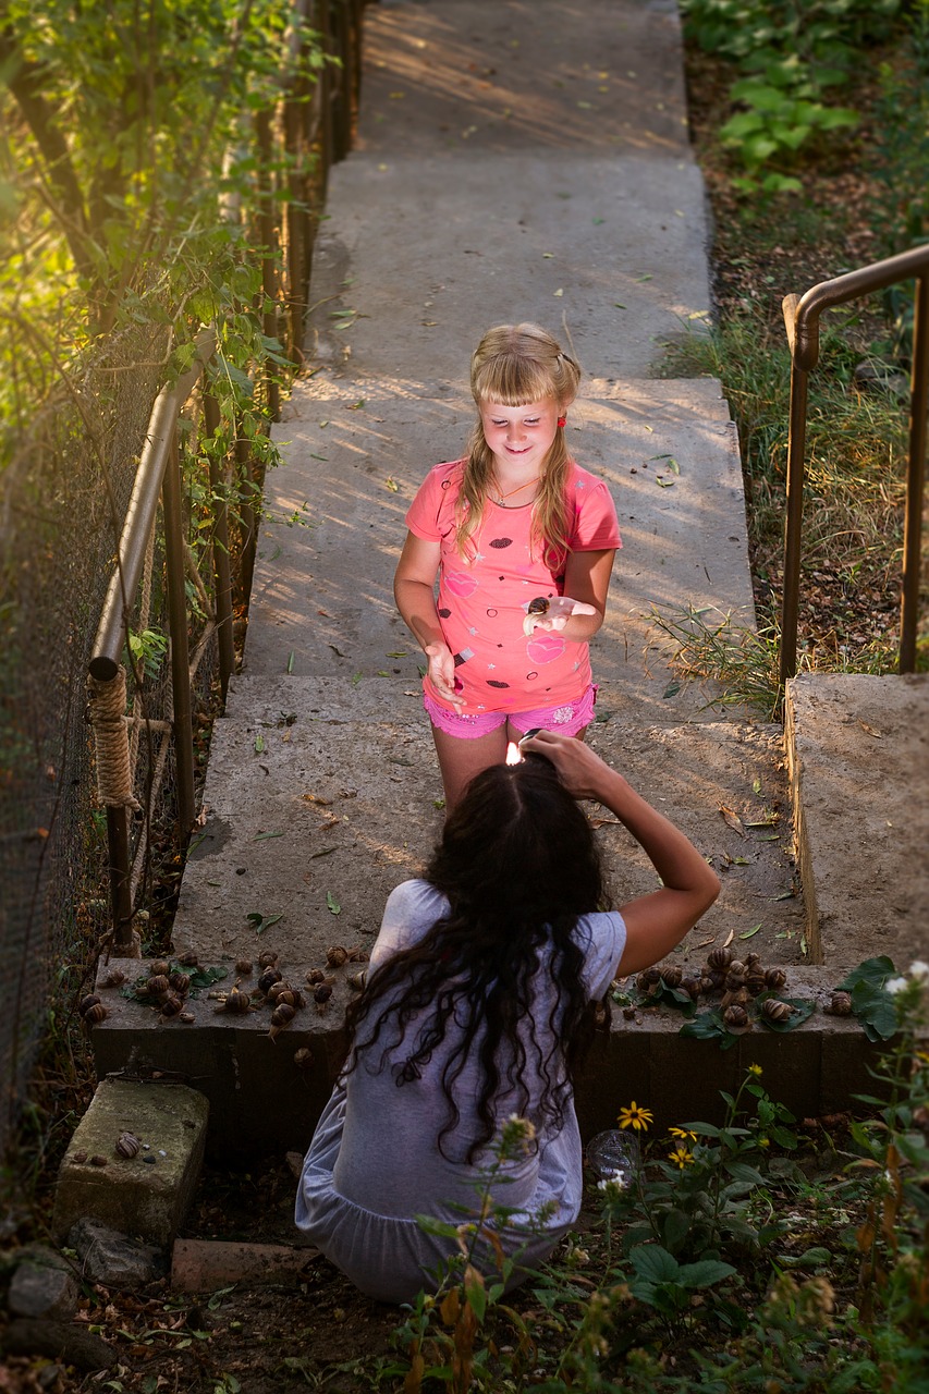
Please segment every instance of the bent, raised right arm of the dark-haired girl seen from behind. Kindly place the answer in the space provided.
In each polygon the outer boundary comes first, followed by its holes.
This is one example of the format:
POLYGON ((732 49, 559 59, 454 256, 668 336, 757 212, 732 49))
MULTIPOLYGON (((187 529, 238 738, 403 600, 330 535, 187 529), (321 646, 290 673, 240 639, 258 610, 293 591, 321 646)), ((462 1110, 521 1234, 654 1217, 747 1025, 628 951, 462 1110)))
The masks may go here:
POLYGON ((629 829, 658 873, 661 889, 619 907, 626 945, 618 973, 637 973, 677 948, 720 894, 720 880, 689 838, 632 789, 590 746, 541 730, 520 744, 555 765, 575 799, 597 799, 629 829))

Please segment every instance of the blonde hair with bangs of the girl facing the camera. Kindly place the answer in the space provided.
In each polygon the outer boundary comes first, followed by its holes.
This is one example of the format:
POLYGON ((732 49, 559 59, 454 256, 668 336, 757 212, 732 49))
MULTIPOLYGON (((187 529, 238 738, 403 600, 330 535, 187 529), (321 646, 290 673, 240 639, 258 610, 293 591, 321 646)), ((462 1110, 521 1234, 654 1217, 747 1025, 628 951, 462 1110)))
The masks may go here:
MULTIPOLYGON (((554 400, 564 413, 577 396, 580 367, 557 339, 540 325, 497 325, 488 329, 471 357, 471 395, 478 408, 488 401, 523 407, 527 401, 554 400)), ((565 434, 558 434, 545 456, 541 485, 533 503, 533 546, 547 566, 559 572, 568 560, 571 519, 565 434)), ((480 418, 471 431, 464 477, 455 509, 458 549, 466 556, 480 528, 494 478, 494 456, 484 439, 480 418)))

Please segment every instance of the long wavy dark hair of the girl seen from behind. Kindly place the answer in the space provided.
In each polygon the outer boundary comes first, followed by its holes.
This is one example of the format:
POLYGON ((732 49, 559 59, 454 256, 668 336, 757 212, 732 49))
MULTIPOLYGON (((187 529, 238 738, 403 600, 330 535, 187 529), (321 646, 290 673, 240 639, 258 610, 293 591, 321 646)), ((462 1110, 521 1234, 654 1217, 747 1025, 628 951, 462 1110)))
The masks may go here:
POLYGON ((442 1069, 448 1117, 438 1147, 448 1156, 444 1142, 460 1121, 455 1085, 477 1050, 478 1133, 469 1139, 470 1163, 499 1126, 494 1100, 501 1090, 515 1092, 518 1112, 561 1126, 593 1034, 583 952, 572 934, 579 916, 611 902, 590 824, 554 765, 538 756, 492 765, 470 782, 424 878, 448 899, 449 913, 378 967, 349 1008, 347 1069, 361 1057, 384 1069, 389 1055, 396 1083, 410 1083, 445 1040, 449 1022, 463 1022, 442 1069), (540 970, 557 988, 545 1046, 533 1019, 540 970), (536 1100, 526 1087, 527 1034, 543 1083, 536 1100))

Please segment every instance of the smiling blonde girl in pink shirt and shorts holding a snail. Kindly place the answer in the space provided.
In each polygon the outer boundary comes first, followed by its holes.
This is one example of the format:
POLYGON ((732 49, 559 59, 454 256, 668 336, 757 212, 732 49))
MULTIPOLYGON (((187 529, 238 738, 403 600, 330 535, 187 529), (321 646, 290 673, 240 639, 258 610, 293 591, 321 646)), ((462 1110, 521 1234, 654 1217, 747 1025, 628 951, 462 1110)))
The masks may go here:
POLYGON ((610 491, 565 445, 579 379, 537 325, 490 329, 471 358, 469 452, 430 471, 406 516, 393 592, 428 659, 448 811, 509 740, 583 736, 593 717, 587 640, 622 544, 610 491))

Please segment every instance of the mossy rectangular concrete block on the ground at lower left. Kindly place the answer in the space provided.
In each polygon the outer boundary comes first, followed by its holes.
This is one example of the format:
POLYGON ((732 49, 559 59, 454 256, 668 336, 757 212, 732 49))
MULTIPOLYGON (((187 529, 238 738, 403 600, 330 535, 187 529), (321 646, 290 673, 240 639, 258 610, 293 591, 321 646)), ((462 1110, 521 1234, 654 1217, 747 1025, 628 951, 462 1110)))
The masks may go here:
POLYGON ((103 1079, 61 1161, 56 1236, 91 1217, 120 1234, 170 1245, 197 1185, 208 1114, 204 1094, 184 1085, 103 1079), (142 1143, 135 1157, 116 1151, 123 1132, 142 1143))

